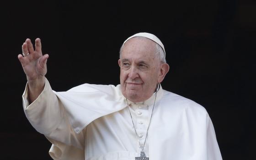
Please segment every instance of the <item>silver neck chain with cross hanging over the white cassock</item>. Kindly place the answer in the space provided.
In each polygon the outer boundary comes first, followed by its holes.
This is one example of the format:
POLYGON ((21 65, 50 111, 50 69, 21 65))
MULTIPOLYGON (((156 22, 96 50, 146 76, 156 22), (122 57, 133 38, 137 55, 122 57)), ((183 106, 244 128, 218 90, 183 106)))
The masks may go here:
MULTIPOLYGON (((159 84, 157 84, 157 88, 156 88, 156 91, 155 91, 155 100, 156 100, 156 95, 157 95, 158 89, 159 89, 159 84)), ((150 123, 151 123, 151 119, 152 119, 152 115, 153 115, 153 111, 154 111, 154 107, 155 107, 155 100, 154 100, 154 105, 153 105, 153 108, 152 108, 151 116, 150 116, 150 119, 149 119, 149 126, 150 126, 150 123)), ((136 130, 135 125, 134 125, 133 116, 132 116, 132 113, 130 111, 130 106, 128 104, 127 98, 126 98, 126 103, 127 103, 128 110, 129 110, 129 113, 130 113, 130 116, 131 116, 131 119, 132 119, 132 122, 133 122, 133 128, 134 128, 134 131, 135 131, 135 134, 136 134, 136 139, 139 142, 139 136, 138 136, 137 130, 136 130)), ((147 140, 147 137, 148 137, 148 134, 149 134, 149 126, 147 128, 147 133, 146 133, 144 144, 142 145, 139 142, 139 146, 140 146, 140 149, 141 149, 140 157, 135 157, 135 160, 149 160, 149 157, 146 157, 145 152, 144 152, 144 146, 146 144, 146 140, 147 140)))

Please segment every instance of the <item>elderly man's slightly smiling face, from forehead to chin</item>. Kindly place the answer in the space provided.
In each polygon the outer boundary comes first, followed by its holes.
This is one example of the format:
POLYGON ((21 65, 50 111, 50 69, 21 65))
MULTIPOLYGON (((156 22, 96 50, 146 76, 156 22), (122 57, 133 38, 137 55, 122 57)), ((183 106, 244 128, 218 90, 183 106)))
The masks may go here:
POLYGON ((156 54, 156 43, 134 37, 128 40, 122 49, 120 66, 120 84, 123 96, 133 102, 145 101, 152 96, 160 76, 160 59, 156 54))

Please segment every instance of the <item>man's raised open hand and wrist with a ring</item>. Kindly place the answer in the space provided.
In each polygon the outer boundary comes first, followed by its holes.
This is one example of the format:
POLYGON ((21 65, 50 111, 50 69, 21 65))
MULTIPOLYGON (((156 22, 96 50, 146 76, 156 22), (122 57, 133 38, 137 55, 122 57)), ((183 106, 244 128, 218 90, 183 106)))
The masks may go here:
POLYGON ((22 45, 22 54, 18 55, 22 68, 27 75, 29 85, 29 98, 34 101, 43 91, 45 75, 47 73, 46 62, 48 54, 42 54, 41 40, 36 39, 35 50, 30 39, 26 39, 22 45))

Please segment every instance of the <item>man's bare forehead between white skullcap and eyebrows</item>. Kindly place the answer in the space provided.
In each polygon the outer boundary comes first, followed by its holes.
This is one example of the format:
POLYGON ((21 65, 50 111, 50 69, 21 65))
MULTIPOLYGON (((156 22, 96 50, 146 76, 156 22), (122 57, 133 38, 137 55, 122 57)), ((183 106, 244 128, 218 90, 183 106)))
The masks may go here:
POLYGON ((124 43, 121 59, 155 59, 156 43, 145 37, 133 37, 124 43))

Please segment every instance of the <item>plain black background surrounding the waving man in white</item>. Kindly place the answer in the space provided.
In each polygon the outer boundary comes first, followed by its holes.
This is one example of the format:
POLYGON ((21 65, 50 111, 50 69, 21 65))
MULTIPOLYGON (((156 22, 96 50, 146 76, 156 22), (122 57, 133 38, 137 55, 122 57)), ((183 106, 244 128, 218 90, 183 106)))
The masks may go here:
POLYGON ((196 101, 213 121, 224 160, 255 159, 255 0, 8 1, 1 3, 1 160, 50 160, 51 144, 22 109, 17 55, 40 37, 53 90, 119 84, 123 41, 150 32, 165 45, 165 90, 196 101))

